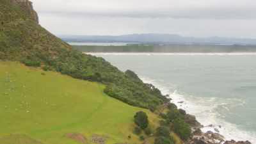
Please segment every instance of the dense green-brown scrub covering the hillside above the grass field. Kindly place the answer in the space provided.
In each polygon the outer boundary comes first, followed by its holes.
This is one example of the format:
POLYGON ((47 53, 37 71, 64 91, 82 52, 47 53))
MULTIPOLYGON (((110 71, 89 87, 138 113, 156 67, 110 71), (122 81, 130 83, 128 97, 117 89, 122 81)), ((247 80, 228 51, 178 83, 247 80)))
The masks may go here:
POLYGON ((1 1, 0 17, 0 60, 22 61, 28 66, 104 83, 108 85, 104 92, 132 106, 154 110, 167 101, 157 88, 144 84, 131 72, 124 74, 102 58, 72 49, 17 4, 1 1))

